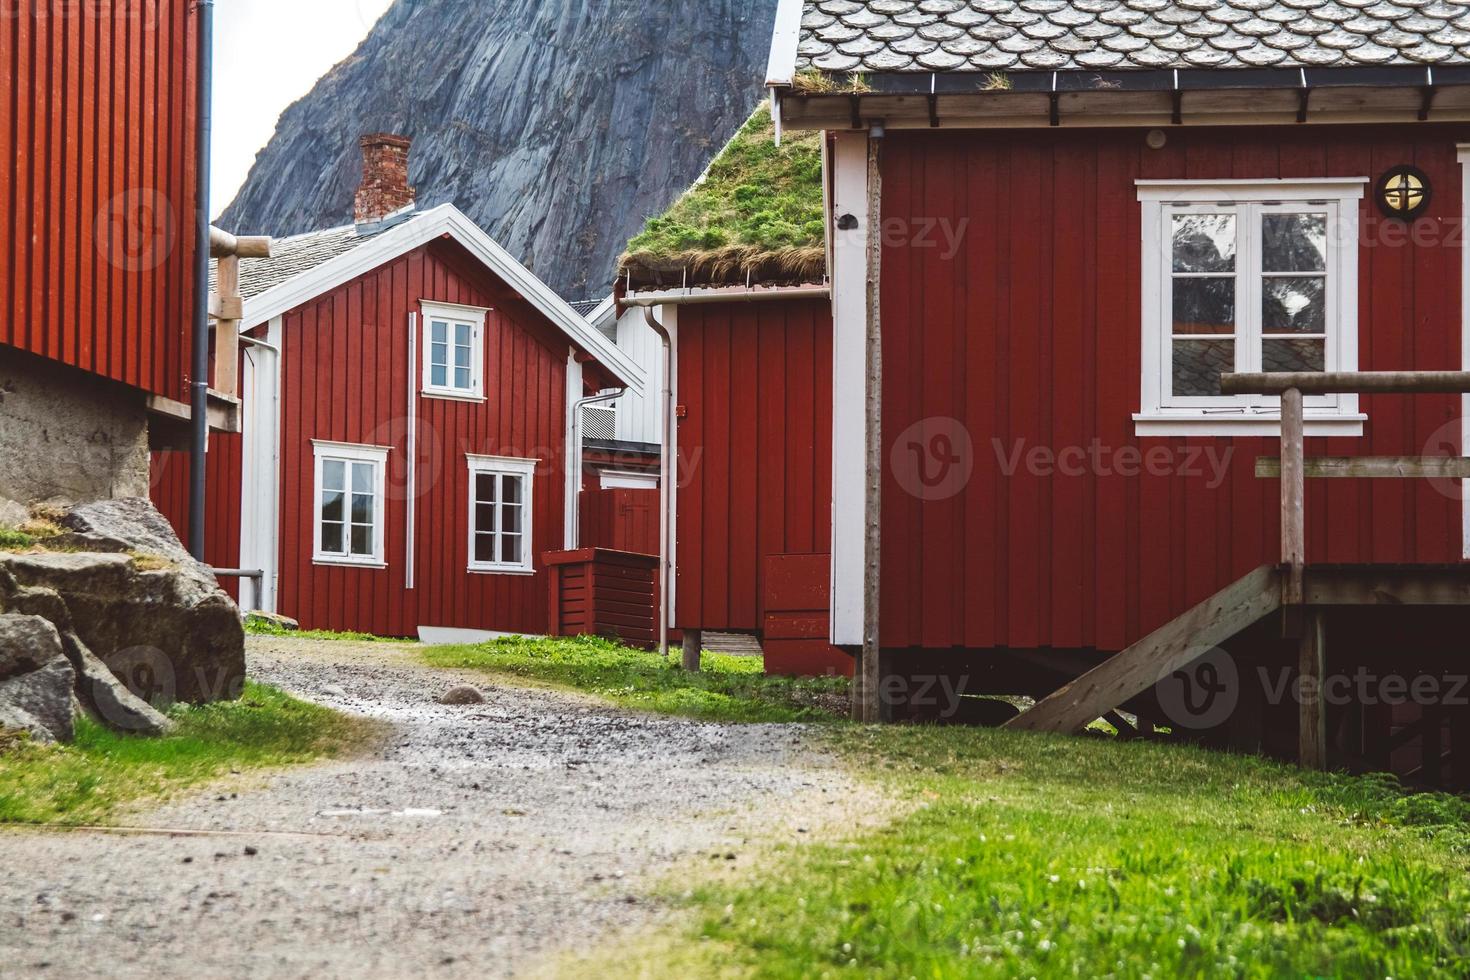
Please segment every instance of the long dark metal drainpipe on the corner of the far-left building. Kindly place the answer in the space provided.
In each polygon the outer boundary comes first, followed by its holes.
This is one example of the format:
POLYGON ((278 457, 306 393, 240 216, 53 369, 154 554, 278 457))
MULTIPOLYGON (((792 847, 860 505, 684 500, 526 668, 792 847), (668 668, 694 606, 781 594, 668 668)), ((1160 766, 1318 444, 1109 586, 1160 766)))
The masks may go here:
POLYGON ((198 132, 194 201, 194 364, 190 378, 188 550, 204 560, 204 467, 209 450, 209 167, 215 98, 215 0, 198 9, 198 132))

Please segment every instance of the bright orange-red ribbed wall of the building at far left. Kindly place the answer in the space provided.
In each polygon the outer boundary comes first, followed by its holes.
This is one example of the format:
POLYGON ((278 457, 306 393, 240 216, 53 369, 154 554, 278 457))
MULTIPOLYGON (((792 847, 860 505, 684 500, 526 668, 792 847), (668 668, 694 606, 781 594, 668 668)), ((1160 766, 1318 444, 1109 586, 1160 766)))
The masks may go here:
POLYGON ((0 344, 187 401, 188 0, 19 0, 0 18, 0 344))

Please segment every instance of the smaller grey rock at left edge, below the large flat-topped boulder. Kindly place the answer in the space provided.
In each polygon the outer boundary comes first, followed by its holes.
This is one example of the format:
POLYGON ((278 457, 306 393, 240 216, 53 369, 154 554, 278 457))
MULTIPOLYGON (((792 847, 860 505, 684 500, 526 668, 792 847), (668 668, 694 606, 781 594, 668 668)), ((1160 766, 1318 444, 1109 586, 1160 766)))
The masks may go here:
POLYGON ((0 616, 0 729, 71 742, 76 673, 56 627, 40 616, 0 616))

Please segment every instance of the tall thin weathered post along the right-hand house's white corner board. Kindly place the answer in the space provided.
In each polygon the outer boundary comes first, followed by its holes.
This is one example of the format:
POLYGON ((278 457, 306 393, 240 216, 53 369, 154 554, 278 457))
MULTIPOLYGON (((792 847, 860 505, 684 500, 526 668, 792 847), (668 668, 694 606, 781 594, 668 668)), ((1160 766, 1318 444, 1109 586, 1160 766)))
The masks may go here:
POLYGON ((853 720, 876 724, 883 720, 882 633, 879 630, 879 582, 882 580, 883 507, 883 332, 879 284, 882 276, 883 175, 882 138, 867 138, 867 370, 864 379, 866 476, 863 494, 863 652, 853 676, 853 720))

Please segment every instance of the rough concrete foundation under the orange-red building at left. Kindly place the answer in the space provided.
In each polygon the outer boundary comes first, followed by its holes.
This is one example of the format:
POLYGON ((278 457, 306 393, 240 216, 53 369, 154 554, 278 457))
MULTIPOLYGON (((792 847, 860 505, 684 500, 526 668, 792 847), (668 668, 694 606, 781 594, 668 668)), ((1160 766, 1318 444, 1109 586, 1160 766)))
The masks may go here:
POLYGON ((0 347, 0 516, 147 495, 143 394, 0 347))

